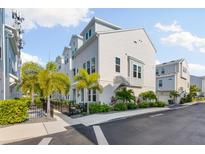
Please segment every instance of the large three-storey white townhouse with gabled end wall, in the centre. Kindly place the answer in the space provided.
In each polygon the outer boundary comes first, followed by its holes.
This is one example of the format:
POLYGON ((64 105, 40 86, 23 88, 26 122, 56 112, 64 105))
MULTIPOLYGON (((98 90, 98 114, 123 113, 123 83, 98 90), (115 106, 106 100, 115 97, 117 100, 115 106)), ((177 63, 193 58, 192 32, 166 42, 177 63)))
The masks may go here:
POLYGON ((110 103, 122 86, 133 89, 135 96, 155 91, 155 48, 143 28, 122 29, 94 17, 80 35, 72 36, 70 47, 70 100, 110 103), (73 77, 79 68, 100 74, 102 93, 77 92, 73 77))

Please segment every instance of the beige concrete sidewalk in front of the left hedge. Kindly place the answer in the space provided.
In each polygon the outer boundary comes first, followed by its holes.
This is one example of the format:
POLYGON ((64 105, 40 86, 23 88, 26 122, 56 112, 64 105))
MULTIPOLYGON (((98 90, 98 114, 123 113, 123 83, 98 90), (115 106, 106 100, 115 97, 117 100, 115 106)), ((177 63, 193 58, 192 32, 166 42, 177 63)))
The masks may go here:
POLYGON ((58 116, 55 116, 55 118, 56 121, 17 124, 0 128, 0 144, 66 131, 65 127, 69 126, 69 124, 58 116))

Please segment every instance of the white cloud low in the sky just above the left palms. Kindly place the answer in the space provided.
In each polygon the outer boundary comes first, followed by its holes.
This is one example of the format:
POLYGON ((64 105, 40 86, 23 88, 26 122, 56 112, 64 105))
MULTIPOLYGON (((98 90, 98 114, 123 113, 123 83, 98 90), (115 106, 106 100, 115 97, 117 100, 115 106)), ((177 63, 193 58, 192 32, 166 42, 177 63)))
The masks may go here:
POLYGON ((25 52, 21 52, 21 60, 22 60, 22 64, 32 61, 32 62, 38 63, 42 66, 45 65, 45 63, 42 61, 41 58, 34 56, 34 55, 30 55, 30 54, 25 53, 25 52))

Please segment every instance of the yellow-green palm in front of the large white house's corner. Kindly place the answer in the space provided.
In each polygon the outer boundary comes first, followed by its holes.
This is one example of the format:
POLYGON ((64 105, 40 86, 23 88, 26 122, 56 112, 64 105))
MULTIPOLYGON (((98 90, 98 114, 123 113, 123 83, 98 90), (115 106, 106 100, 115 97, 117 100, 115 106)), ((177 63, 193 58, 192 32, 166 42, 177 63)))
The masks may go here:
MULTIPOLYGON (((79 92, 81 89, 97 90, 102 92, 102 86, 99 84, 100 75, 98 73, 88 74, 85 69, 79 69, 78 74, 74 77, 76 89, 79 92)), ((87 113, 89 114, 89 102, 87 103, 87 113)))

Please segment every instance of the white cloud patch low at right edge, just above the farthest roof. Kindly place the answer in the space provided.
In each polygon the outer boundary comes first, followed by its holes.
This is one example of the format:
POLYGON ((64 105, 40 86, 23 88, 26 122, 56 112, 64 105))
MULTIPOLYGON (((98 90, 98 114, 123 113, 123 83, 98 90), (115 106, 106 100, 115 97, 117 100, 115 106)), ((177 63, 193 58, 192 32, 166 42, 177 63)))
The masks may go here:
POLYGON ((201 76, 205 75, 205 65, 190 63, 189 68, 191 74, 201 75, 201 76))

